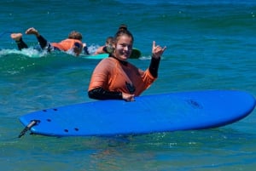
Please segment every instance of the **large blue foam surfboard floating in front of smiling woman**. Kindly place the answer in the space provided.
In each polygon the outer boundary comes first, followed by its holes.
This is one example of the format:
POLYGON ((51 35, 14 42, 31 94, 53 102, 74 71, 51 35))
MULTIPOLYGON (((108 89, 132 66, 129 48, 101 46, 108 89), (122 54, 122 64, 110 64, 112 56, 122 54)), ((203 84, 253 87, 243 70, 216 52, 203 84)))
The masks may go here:
POLYGON ((35 111, 20 117, 32 134, 108 136, 216 128, 253 111, 251 94, 206 90, 137 97, 133 102, 101 100, 35 111))

